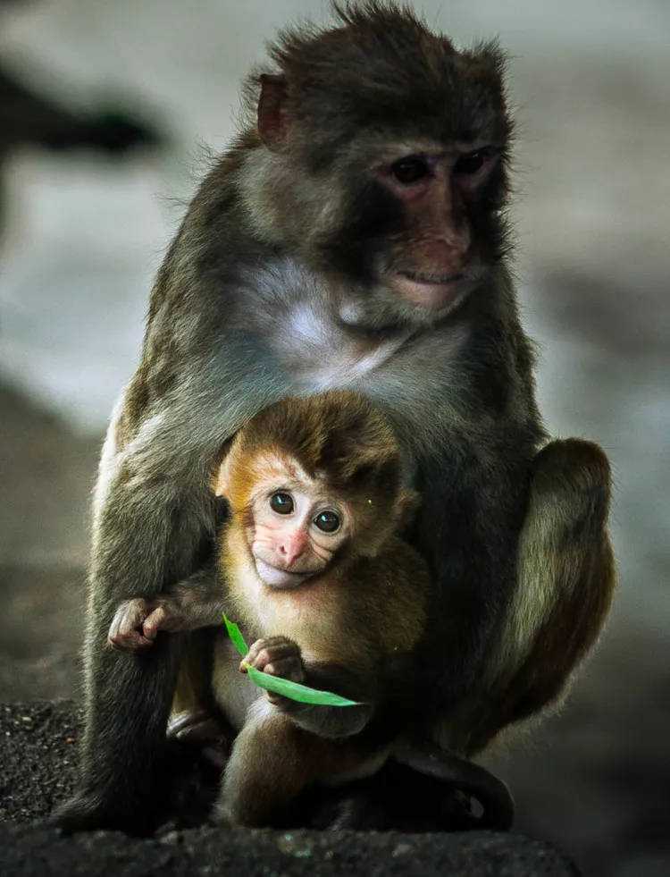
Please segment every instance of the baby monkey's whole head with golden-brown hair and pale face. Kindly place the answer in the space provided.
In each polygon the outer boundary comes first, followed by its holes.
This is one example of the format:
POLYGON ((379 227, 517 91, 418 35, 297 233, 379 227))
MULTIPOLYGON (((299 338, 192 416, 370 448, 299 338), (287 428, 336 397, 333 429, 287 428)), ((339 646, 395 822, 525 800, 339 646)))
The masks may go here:
POLYGON ((259 577, 280 588, 374 557, 418 499, 389 424, 353 392, 261 411, 231 444, 216 493, 230 503, 229 533, 244 533, 259 577))

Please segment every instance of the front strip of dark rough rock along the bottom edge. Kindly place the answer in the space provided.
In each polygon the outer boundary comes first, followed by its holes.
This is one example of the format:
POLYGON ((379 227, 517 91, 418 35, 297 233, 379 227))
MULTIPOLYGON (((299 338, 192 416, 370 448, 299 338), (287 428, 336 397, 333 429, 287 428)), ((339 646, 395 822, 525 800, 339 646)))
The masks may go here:
POLYGON ((172 877, 186 874, 346 877, 574 877, 574 867, 539 841, 494 834, 293 835, 270 831, 185 831, 138 841, 98 832, 60 838, 41 827, 0 826, 4 877, 67 873, 172 877))

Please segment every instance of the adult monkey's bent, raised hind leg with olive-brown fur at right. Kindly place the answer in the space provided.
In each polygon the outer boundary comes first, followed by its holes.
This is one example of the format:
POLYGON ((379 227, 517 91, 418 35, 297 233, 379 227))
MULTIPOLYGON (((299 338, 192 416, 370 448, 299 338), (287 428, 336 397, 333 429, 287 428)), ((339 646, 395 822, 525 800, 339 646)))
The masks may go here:
POLYGON ((596 643, 616 579, 610 492, 609 463, 596 444, 552 442, 534 460, 515 594, 484 686, 457 720, 467 755, 555 701, 596 643))

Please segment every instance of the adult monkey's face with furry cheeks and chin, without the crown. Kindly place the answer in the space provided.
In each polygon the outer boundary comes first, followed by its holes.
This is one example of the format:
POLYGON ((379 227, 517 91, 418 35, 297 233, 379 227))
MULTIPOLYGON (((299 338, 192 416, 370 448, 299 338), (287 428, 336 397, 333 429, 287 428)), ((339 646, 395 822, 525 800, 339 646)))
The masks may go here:
POLYGON ((505 250, 495 133, 452 142, 363 131, 314 177, 298 246, 335 278, 344 323, 431 325, 487 285, 505 250))

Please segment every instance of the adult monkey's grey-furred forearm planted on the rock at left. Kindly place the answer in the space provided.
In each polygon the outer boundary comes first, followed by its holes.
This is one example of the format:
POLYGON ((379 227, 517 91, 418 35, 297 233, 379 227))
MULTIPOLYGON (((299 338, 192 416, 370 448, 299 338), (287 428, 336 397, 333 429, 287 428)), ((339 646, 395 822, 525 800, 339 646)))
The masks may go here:
POLYGON ((197 566, 207 505, 176 487, 167 502, 162 483, 114 459, 104 451, 96 499, 79 787, 54 822, 64 831, 143 835, 168 797, 165 730, 184 639, 165 634, 150 649, 123 654, 107 645, 107 633, 119 603, 150 599, 197 566))

